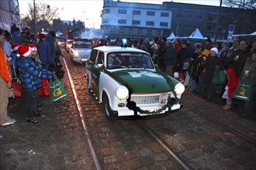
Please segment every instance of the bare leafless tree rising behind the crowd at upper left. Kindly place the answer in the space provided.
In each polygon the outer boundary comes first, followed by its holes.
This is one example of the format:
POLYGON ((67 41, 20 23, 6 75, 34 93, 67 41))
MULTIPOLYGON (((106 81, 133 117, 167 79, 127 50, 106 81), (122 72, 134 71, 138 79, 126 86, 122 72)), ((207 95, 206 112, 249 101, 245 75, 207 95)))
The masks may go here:
POLYGON ((36 25, 37 32, 49 31, 52 29, 52 24, 54 19, 60 19, 58 8, 50 7, 45 3, 36 3, 35 9, 33 4, 29 3, 29 12, 22 17, 22 26, 29 26, 31 30, 35 30, 34 26, 36 25), (36 21, 34 19, 34 13, 36 14, 36 21), (34 25, 34 23, 36 23, 34 25))

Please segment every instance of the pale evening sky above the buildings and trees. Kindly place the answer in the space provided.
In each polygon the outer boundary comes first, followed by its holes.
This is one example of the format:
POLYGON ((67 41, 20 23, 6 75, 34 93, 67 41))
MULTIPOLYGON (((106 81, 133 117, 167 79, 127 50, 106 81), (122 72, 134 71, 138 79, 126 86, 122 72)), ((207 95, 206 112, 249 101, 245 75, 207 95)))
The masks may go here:
MULTIPOLYGON (((102 19, 103 0, 35 0, 36 3, 45 3, 50 7, 59 8, 61 20, 73 19, 85 22, 85 27, 99 29, 102 19)), ((137 2, 149 4, 162 4, 171 0, 120 0, 120 2, 137 2)), ((172 2, 190 3, 199 5, 220 5, 220 0, 172 0, 172 2)), ((33 4, 33 0, 19 0, 19 12, 25 15, 28 12, 28 4, 33 4)))

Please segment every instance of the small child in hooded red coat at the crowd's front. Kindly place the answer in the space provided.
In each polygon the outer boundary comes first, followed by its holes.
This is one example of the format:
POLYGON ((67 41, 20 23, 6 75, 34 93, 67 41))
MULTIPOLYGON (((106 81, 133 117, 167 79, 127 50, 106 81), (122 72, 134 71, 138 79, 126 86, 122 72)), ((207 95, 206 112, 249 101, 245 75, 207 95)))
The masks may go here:
POLYGON ((227 93, 227 104, 223 106, 223 110, 230 110, 231 104, 232 104, 232 96, 237 88, 238 79, 237 74, 234 69, 228 69, 225 70, 224 73, 227 75, 227 87, 228 87, 228 93, 227 93))

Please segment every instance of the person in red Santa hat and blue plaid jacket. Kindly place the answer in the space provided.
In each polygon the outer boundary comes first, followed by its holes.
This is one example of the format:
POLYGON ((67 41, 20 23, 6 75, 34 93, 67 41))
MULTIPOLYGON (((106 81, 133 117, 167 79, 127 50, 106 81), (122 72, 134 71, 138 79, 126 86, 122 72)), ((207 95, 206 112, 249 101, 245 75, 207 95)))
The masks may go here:
POLYGON ((33 124, 38 122, 36 117, 40 116, 37 112, 37 89, 43 86, 41 79, 52 79, 54 76, 54 73, 44 70, 33 62, 32 56, 35 50, 34 47, 21 45, 17 50, 19 58, 16 59, 20 80, 25 91, 26 122, 33 124))

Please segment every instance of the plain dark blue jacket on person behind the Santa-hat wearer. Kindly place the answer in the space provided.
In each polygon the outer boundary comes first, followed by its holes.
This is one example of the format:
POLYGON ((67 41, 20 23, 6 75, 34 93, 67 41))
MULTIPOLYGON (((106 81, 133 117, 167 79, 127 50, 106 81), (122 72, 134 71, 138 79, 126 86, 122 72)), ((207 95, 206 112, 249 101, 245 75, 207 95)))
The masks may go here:
POLYGON ((40 47, 40 61, 43 65, 54 63, 55 50, 54 50, 54 38, 48 33, 46 39, 42 42, 40 47))

